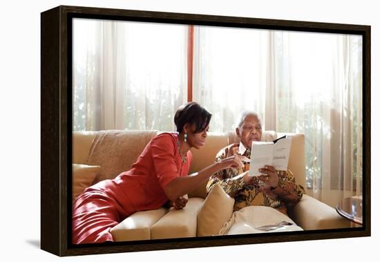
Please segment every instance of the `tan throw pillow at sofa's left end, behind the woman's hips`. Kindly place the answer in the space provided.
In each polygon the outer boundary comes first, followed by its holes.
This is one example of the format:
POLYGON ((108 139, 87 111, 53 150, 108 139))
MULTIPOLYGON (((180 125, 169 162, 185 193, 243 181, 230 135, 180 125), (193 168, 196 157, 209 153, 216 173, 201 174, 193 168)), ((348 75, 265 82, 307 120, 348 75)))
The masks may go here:
POLYGON ((99 171, 99 166, 73 164, 73 202, 84 189, 93 185, 99 171))

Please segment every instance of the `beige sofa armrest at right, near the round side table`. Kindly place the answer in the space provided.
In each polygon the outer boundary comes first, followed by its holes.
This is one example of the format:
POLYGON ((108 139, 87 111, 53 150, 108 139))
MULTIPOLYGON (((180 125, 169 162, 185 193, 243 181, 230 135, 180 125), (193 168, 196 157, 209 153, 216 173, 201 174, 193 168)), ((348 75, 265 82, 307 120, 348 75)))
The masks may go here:
POLYGON ((340 216, 334 208, 306 194, 289 210, 289 216, 303 230, 351 227, 350 221, 340 216))

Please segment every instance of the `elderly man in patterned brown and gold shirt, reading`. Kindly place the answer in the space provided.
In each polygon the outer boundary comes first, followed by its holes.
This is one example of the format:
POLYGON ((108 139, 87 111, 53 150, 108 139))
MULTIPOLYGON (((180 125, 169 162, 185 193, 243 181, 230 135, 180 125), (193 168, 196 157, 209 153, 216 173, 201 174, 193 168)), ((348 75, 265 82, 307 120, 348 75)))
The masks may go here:
MULTIPOLYGON (((238 144, 230 144, 221 149, 216 155, 220 161, 235 154, 251 158, 253 141, 260 141, 262 127, 260 118, 253 111, 244 111, 238 118, 236 135, 238 144)), ((287 207, 295 205, 302 198, 303 187, 296 185, 292 172, 277 171, 267 166, 260 170, 265 176, 248 176, 249 165, 243 169, 223 169, 213 174, 207 184, 207 194, 218 183, 229 196, 235 198, 234 210, 237 211, 249 205, 264 205, 273 207, 283 214, 287 214, 287 207)))

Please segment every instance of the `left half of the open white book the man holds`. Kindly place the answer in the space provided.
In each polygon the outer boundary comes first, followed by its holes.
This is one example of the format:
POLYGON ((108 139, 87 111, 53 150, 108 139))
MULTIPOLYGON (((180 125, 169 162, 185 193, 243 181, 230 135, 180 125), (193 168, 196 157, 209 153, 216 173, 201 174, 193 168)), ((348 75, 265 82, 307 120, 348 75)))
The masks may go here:
POLYGON ((249 164, 248 176, 261 176, 258 169, 265 167, 265 165, 272 165, 273 162, 273 142, 256 142, 252 143, 251 160, 249 164))

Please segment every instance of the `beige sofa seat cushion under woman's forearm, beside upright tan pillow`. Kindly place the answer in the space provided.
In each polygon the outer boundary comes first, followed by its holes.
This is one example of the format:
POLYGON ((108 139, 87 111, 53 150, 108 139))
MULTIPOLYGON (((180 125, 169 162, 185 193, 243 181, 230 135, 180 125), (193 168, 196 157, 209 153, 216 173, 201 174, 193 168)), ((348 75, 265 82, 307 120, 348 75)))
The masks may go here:
POLYGON ((151 227, 151 239, 193 237, 197 232, 197 214, 203 198, 189 198, 183 209, 170 209, 151 227))

